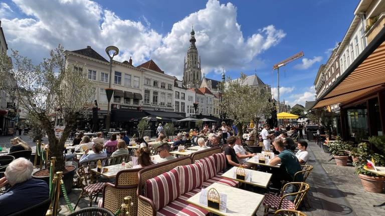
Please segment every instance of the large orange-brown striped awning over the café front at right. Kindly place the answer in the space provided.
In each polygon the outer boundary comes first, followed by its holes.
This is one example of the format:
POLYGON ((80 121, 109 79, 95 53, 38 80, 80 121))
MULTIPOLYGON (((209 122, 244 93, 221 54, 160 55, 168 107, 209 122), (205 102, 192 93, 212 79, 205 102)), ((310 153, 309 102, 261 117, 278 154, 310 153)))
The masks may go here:
POLYGON ((336 82, 319 97, 312 107, 335 103, 347 104, 353 100, 383 89, 385 84, 385 27, 358 55, 336 82))

